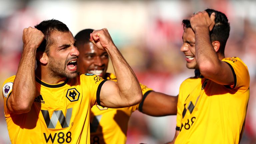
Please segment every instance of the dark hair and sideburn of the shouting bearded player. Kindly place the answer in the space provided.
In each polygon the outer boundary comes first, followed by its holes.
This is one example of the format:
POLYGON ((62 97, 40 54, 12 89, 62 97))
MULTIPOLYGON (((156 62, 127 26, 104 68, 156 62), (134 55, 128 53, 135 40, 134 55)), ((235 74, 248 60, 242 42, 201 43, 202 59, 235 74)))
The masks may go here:
POLYGON ((53 31, 69 32, 67 25, 55 19, 42 21, 40 24, 36 25, 35 28, 42 31, 44 34, 44 41, 37 48, 37 51, 46 52, 47 55, 49 55, 49 47, 53 43, 51 33, 53 31))

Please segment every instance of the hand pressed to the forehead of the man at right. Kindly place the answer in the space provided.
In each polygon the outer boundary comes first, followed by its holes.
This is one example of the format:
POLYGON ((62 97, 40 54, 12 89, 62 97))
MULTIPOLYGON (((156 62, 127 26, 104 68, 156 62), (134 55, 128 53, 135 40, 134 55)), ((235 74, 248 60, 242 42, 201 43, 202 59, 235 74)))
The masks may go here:
POLYGON ((206 11, 199 11, 190 17, 190 24, 195 32, 197 27, 207 27, 211 31, 215 25, 215 13, 213 12, 209 17, 206 11))

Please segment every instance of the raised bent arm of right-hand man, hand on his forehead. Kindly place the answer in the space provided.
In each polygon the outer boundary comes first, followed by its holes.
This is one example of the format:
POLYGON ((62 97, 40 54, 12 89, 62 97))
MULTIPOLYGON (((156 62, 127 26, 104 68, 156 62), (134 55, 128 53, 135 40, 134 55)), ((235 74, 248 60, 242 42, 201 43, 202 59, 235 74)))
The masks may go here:
MULTIPOLYGON (((190 18, 190 23, 195 32, 196 62, 200 73, 210 80, 222 84, 234 84, 234 77, 229 65, 221 61, 217 55, 220 42, 210 40, 210 32, 214 25, 215 13, 209 17, 206 11, 198 12, 190 18)), ((224 56, 223 56, 224 58, 224 56)))

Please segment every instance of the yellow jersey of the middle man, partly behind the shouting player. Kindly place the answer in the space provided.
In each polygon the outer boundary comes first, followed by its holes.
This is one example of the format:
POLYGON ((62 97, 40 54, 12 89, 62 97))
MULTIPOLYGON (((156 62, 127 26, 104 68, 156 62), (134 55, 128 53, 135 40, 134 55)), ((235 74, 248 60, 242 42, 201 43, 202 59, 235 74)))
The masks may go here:
MULTIPOLYGON (((104 79, 117 81, 116 76, 109 73, 104 79)), ((152 89, 143 84, 140 86, 145 99, 152 89)), ((125 144, 129 118, 139 107, 142 107, 142 103, 118 109, 93 106, 90 120, 91 144, 125 144)))

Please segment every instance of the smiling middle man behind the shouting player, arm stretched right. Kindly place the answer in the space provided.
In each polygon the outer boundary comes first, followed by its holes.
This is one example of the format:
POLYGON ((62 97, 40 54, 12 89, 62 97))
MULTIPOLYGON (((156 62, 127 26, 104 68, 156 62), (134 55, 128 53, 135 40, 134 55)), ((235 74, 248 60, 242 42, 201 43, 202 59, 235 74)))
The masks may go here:
MULTIPOLYGON (((92 29, 84 29, 76 34, 77 48, 80 52, 78 71, 97 74, 104 79, 118 81, 113 73, 107 73, 108 53, 98 49, 90 41, 92 29)), ((110 56, 111 57, 111 56, 110 56)), ((140 84, 143 99, 140 104, 112 109, 95 105, 91 110, 91 141, 103 144, 126 143, 129 118, 135 110, 151 116, 175 115, 177 113, 177 96, 169 96, 153 91, 140 84)), ((111 95, 109 95, 111 97, 111 95)))

